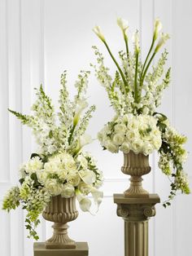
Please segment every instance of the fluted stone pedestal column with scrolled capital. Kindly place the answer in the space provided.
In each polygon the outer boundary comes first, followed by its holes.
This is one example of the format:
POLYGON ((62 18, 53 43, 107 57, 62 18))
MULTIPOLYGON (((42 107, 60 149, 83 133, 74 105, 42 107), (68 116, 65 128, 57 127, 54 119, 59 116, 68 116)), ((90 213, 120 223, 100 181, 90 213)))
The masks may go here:
POLYGON ((124 219, 124 256, 148 256, 148 219, 155 216, 157 194, 125 197, 114 194, 117 215, 124 219))

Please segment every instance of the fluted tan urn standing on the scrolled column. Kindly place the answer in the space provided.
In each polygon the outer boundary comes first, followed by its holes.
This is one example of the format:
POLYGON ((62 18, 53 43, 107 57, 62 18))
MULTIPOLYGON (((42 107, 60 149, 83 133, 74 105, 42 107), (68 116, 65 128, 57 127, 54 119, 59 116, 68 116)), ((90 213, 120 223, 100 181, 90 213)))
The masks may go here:
POLYGON ((148 174, 151 171, 149 166, 149 156, 142 153, 124 153, 124 166, 121 167, 124 174, 129 174, 130 187, 124 191, 124 196, 128 197, 148 197, 149 192, 142 188, 142 175, 148 174))

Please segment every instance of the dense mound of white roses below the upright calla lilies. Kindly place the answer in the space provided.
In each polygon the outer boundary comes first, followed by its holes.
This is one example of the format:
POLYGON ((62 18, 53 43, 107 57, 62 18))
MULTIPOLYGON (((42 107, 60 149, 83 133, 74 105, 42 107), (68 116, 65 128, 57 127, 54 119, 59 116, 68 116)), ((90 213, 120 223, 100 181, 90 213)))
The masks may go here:
POLYGON ((148 115, 127 114, 115 117, 98 133, 98 139, 110 152, 142 152, 151 154, 161 146, 161 133, 157 119, 148 115))

